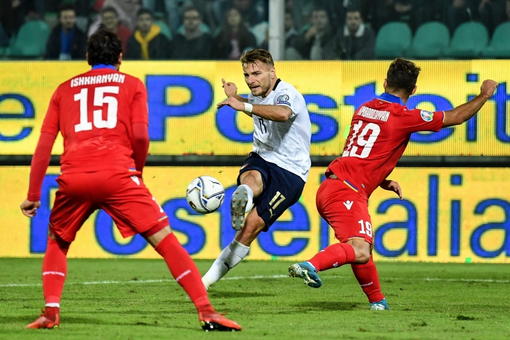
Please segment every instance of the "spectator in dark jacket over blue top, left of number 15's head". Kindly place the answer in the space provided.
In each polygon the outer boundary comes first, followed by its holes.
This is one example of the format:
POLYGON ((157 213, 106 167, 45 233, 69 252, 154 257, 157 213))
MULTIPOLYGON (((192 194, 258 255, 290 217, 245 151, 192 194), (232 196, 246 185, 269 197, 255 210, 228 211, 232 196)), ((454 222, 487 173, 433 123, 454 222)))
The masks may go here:
POLYGON ((67 4, 60 8, 60 23, 49 35, 45 59, 85 59, 87 35, 76 26, 74 6, 67 4))

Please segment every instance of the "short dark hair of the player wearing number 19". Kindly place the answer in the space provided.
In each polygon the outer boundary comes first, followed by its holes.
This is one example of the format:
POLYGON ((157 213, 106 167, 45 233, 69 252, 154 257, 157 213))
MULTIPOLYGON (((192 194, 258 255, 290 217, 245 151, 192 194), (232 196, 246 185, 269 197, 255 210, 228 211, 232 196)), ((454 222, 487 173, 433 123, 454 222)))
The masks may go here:
POLYGON ((416 86, 416 80, 421 68, 414 62, 397 58, 393 60, 386 75, 387 86, 393 90, 405 91, 411 94, 416 86))

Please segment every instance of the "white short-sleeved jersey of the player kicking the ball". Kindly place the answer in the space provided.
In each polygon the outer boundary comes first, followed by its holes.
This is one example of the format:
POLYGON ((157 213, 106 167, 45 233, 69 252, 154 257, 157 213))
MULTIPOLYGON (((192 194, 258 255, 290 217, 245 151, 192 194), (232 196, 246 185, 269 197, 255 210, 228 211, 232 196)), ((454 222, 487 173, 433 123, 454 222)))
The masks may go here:
POLYGON ((285 105, 292 110, 286 122, 273 122, 252 114, 253 152, 263 159, 298 175, 304 182, 310 173, 310 140, 312 124, 307 104, 296 88, 277 80, 266 98, 248 94, 248 103, 259 105, 285 105))

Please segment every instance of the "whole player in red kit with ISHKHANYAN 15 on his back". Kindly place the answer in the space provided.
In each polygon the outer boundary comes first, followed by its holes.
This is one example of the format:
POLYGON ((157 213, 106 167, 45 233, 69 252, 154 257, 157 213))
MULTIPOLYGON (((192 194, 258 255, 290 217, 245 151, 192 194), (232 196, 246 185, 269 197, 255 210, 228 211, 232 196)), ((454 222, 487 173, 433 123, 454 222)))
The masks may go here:
POLYGON ((62 83, 50 100, 32 158, 28 198, 21 204, 25 215, 33 217, 40 206, 42 181, 59 132, 64 153, 42 261, 46 305, 27 328, 59 326, 67 250, 90 214, 103 209, 122 236, 141 234, 165 259, 195 304, 204 330, 241 330, 216 313, 198 269, 143 183, 149 145, 147 91, 138 78, 118 71, 121 52, 115 34, 101 30, 92 35, 87 43, 92 69, 62 83))

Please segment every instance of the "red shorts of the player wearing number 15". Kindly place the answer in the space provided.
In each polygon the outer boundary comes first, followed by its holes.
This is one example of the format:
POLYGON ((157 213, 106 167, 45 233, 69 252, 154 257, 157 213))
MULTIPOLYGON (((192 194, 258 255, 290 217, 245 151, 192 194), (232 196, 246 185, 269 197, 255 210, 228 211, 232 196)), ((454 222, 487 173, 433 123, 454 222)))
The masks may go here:
POLYGON ((140 172, 99 171, 62 174, 49 228, 72 242, 87 218, 103 209, 123 237, 168 226, 168 217, 143 184, 140 172))

